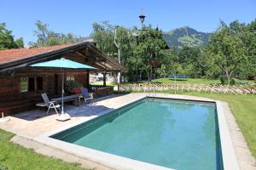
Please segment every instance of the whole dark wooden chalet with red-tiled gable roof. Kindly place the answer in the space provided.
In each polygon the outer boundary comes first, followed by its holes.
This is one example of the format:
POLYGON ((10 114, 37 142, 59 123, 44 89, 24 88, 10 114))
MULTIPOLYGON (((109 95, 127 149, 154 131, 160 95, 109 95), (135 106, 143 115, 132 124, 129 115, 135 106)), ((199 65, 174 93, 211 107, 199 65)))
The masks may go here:
MULTIPOLYGON (((29 65, 66 58, 96 67, 106 75, 109 71, 126 71, 107 54, 103 54, 92 42, 64 44, 44 48, 18 48, 0 50, 0 113, 11 115, 35 108, 42 102, 42 93, 50 98, 61 95, 61 69, 35 68, 29 65)), ((90 71, 65 69, 65 79, 89 86, 90 71)), ((106 85, 106 78, 103 78, 106 85)))

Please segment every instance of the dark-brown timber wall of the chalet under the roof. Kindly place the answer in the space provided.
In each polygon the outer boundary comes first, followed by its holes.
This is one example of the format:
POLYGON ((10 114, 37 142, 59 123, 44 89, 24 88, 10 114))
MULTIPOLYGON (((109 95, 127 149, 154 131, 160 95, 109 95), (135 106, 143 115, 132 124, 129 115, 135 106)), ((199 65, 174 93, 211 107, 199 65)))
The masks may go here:
MULTIPOLYGON (((66 69, 65 79, 67 76, 73 76, 75 81, 88 88, 89 71, 66 69)), ((0 113, 4 112, 7 116, 35 109, 37 103, 43 102, 41 94, 44 92, 49 98, 61 95, 61 69, 23 68, 11 74, 0 74, 0 113), (22 77, 43 77, 43 90, 20 92, 22 77), (56 88, 55 82, 58 84, 56 88)))

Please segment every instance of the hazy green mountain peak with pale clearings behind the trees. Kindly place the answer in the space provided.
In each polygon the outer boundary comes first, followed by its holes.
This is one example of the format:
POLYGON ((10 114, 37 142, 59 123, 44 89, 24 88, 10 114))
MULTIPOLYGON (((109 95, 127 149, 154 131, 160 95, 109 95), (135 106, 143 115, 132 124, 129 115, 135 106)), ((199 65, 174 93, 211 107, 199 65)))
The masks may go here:
POLYGON ((189 26, 174 29, 163 33, 169 47, 182 48, 183 46, 203 48, 209 41, 211 33, 196 31, 189 26))

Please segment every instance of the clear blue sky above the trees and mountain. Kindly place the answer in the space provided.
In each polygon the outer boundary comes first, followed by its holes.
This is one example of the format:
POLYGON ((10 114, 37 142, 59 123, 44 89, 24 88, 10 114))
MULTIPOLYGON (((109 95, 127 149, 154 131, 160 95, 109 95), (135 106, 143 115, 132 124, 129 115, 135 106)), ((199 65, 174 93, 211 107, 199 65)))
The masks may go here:
POLYGON ((255 0, 1 0, 0 22, 13 30, 15 38, 34 41, 36 20, 56 32, 90 35, 93 22, 109 20, 114 25, 140 26, 138 15, 146 14, 145 24, 169 31, 190 26, 197 31, 214 31, 219 20, 248 23, 256 18, 255 0))

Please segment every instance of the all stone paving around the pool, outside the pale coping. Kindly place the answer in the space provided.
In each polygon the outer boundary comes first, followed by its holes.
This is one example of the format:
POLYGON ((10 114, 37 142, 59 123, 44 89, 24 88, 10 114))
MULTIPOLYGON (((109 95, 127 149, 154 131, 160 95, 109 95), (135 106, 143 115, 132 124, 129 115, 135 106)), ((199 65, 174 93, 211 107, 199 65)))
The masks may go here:
MULTIPOLYGON (((44 154, 46 156, 55 156, 61 158, 64 161, 79 162, 82 167, 90 167, 96 169, 111 169, 109 167, 104 167, 97 164, 96 162, 91 162, 84 160, 81 157, 73 156, 67 152, 56 150, 44 144, 39 144, 32 139, 43 134, 55 131, 64 126, 71 125, 76 122, 84 122, 90 120, 96 116, 100 116, 102 111, 114 110, 123 105, 127 105, 137 99, 142 99, 146 97, 147 94, 125 94, 125 95, 112 95, 102 99, 97 99, 96 103, 93 105, 65 105, 65 111, 71 115, 71 120, 67 122, 58 122, 55 120, 55 112, 51 112, 49 116, 46 115, 46 111, 26 111, 14 116, 9 116, 9 122, 0 123, 0 128, 11 133, 17 134, 13 142, 23 145, 26 148, 34 149, 38 153, 44 154)), ((175 95, 175 94, 157 94, 158 97, 166 97, 173 99, 199 99, 206 101, 214 101, 212 99, 206 99, 195 96, 186 95, 175 95)), ((224 107, 224 116, 227 120, 228 127, 230 130, 230 135, 232 143, 236 152, 236 158, 241 169, 246 170, 256 170, 255 159, 251 155, 247 143, 241 134, 239 127, 236 124, 236 120, 232 115, 230 108, 227 103, 221 102, 224 107)))

